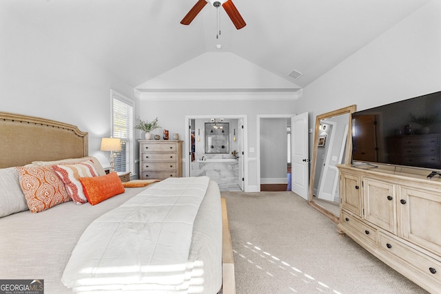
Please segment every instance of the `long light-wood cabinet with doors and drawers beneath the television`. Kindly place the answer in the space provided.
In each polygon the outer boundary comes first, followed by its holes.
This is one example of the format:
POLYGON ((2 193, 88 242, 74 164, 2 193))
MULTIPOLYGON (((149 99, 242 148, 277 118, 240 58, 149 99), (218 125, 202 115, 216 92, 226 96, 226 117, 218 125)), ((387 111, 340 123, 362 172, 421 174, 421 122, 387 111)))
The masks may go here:
POLYGON ((441 289, 441 178, 404 167, 340 172, 340 233, 431 293, 441 289))

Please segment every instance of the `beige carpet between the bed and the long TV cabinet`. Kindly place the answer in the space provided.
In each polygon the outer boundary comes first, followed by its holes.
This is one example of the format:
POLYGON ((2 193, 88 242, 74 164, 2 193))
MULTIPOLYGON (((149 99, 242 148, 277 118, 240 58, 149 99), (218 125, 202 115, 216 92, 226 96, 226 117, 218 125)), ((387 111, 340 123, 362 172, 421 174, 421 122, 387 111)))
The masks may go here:
POLYGON ((238 294, 427 293, 292 192, 222 192, 238 294))

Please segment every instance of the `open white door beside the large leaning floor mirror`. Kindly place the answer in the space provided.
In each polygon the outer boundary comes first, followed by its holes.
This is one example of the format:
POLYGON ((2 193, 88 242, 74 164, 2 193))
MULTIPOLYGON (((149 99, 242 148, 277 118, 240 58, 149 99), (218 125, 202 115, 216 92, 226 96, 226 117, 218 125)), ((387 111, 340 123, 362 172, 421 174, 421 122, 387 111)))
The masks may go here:
POLYGON ((291 118, 291 189, 307 199, 309 187, 308 113, 291 118))

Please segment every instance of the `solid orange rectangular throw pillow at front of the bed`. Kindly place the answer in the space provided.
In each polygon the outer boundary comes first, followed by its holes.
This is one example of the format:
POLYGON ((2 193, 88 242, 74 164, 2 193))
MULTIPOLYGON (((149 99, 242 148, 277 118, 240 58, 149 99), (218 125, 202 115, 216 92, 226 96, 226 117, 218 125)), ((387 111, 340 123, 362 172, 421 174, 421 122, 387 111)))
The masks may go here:
POLYGON ((105 176, 79 178, 85 197, 95 205, 115 195, 124 193, 123 183, 116 173, 105 176))

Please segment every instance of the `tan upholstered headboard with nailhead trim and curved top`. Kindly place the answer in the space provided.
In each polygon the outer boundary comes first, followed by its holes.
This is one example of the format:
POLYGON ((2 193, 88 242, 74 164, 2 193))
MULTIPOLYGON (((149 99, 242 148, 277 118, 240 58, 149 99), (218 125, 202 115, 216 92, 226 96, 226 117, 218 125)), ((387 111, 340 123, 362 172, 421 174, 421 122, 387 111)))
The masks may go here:
POLYGON ((88 133, 55 120, 0 112, 0 168, 88 156, 88 133))

